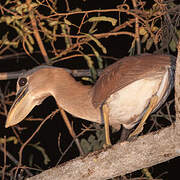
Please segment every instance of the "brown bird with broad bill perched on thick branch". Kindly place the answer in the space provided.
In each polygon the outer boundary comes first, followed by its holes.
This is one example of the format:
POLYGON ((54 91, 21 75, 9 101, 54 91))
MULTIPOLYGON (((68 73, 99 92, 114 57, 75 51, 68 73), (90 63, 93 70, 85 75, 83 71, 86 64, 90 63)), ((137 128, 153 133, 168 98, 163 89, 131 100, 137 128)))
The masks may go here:
POLYGON ((19 76, 5 127, 21 122, 53 96, 73 116, 104 123, 106 144, 111 145, 110 125, 124 132, 136 127, 128 137, 142 131, 148 116, 162 106, 173 88, 175 65, 171 55, 127 56, 106 67, 92 86, 76 81, 64 68, 37 66, 19 76))

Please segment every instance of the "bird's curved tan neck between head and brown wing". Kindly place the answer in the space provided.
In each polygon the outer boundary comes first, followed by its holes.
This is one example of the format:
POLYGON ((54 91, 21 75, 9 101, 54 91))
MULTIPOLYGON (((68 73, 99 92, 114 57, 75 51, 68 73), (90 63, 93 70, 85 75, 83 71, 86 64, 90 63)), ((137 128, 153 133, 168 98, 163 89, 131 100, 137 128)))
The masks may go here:
MULTIPOLYGON (((58 78, 58 77, 57 77, 58 78)), ((75 117, 100 123, 99 109, 92 105, 92 92, 90 86, 77 82, 69 73, 65 73, 66 81, 58 79, 53 96, 61 108, 75 117)))

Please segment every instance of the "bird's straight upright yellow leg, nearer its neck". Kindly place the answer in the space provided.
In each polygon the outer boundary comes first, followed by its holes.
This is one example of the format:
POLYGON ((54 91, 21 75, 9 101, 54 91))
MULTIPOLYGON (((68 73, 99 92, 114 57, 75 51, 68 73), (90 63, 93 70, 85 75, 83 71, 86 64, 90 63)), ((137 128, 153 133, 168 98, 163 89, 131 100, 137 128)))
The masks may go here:
POLYGON ((110 140, 110 135, 109 135, 109 109, 108 109, 107 104, 103 104, 102 111, 103 111, 103 118, 104 118, 106 145, 111 146, 111 140, 110 140))

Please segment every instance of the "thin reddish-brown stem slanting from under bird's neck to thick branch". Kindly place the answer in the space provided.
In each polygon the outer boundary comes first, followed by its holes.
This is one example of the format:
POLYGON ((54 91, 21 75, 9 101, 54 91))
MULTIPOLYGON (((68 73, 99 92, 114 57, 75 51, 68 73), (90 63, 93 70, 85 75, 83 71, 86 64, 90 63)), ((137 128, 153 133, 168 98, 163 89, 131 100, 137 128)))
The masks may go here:
POLYGON ((60 113, 61 113, 61 115, 62 115, 62 117, 64 119, 64 122, 65 122, 65 124, 66 124, 66 126, 67 126, 67 128, 69 130, 69 133, 71 134, 72 138, 74 139, 74 141, 75 141, 75 143, 76 143, 76 145, 77 145, 77 147, 79 149, 79 152, 80 152, 81 156, 83 156, 84 152, 83 152, 83 150, 81 148, 80 142, 79 142, 78 138, 76 137, 76 134, 75 134, 70 122, 69 122, 69 119, 68 119, 64 109, 59 107, 59 110, 60 110, 60 113))

